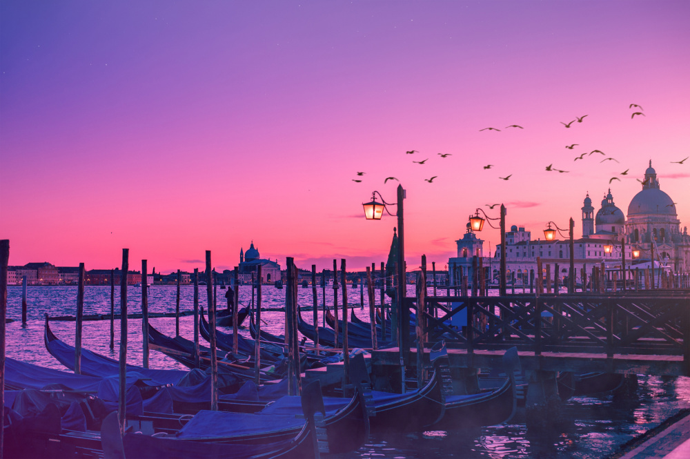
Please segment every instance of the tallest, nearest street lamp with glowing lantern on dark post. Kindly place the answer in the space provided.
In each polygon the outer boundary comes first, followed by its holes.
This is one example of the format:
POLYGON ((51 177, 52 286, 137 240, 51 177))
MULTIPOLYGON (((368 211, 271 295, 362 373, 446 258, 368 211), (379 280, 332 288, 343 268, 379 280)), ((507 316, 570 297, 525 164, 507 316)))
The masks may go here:
MULTIPOLYGON (((400 313, 397 315, 398 330, 400 332, 400 359, 404 361, 406 353, 410 349, 410 311, 405 304, 405 294, 406 294, 406 277, 405 277, 405 232, 404 232, 404 220, 403 220, 403 206, 402 202, 405 199, 405 191, 402 189, 402 185, 397 186, 397 202, 386 202, 378 191, 371 193, 371 202, 362 204, 364 206, 364 217, 368 220, 379 220, 383 216, 383 211, 385 210, 391 217, 397 217, 397 298, 398 307, 400 313), (376 201, 376 195, 379 196, 382 202, 376 201), (397 212, 395 215, 388 211, 386 206, 397 206, 397 212)), ((401 362, 402 363, 402 362, 401 362)))

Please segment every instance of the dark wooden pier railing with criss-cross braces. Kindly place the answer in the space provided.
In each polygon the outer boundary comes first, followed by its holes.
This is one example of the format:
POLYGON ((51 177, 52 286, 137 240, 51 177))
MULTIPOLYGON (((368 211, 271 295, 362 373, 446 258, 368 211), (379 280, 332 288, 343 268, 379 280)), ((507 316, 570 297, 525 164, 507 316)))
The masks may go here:
MULTIPOLYGON (((413 306, 415 299, 408 300, 413 306)), ((690 295, 427 297, 428 343, 568 353, 683 355, 690 362, 690 295)))

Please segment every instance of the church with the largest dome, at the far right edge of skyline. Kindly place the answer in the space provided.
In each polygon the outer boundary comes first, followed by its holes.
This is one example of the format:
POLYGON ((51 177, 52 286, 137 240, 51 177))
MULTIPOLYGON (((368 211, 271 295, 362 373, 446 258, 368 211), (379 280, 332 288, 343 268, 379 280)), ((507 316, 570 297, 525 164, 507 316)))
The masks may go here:
POLYGON ((642 258, 649 260, 653 246, 654 258, 671 265, 674 271, 690 271, 690 236, 687 226, 680 231, 676 203, 661 190, 656 170, 644 171, 642 191, 628 206, 625 242, 640 248, 642 258))

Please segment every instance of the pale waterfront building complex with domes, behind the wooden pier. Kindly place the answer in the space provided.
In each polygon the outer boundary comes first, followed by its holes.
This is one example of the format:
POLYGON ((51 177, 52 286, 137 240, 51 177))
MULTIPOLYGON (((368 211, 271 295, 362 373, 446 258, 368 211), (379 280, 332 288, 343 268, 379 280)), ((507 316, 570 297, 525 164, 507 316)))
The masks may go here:
MULTIPOLYGON (((595 214, 589 193, 584 198, 582 210, 582 237, 573 241, 575 276, 580 279, 582 268, 589 274, 593 266, 615 269, 622 266, 622 240, 625 241, 626 266, 650 262, 652 248, 654 260, 676 273, 690 272, 690 235, 687 227, 680 231, 680 220, 676 213, 676 203, 660 190, 656 171, 651 167, 645 171, 642 191, 637 193, 628 206, 628 215, 613 202, 609 188, 602 199, 600 209, 595 214), (613 245, 611 253, 604 246, 613 245), (632 257, 633 249, 640 249, 638 260, 632 257)), ((541 231, 540 231, 541 233, 541 231)), ((557 233, 558 237, 558 233, 557 233)), ((561 236, 562 237, 562 236, 561 236)), ((493 257, 484 257, 480 240, 471 231, 469 224, 462 239, 455 241, 457 256, 449 258, 451 284, 458 284, 462 276, 472 278, 473 256, 477 255, 477 265, 486 270, 486 279, 497 283, 500 277, 500 244, 495 246, 493 257), (457 272, 454 273, 454 269, 457 272)), ((546 265, 553 266, 552 279, 558 275, 559 282, 566 281, 570 264, 570 242, 567 238, 552 241, 532 240, 531 231, 523 226, 511 226, 506 232, 506 276, 508 283, 529 284, 530 272, 537 269, 537 257, 542 261, 542 276, 546 265), (555 265, 558 264, 558 273, 555 265)))

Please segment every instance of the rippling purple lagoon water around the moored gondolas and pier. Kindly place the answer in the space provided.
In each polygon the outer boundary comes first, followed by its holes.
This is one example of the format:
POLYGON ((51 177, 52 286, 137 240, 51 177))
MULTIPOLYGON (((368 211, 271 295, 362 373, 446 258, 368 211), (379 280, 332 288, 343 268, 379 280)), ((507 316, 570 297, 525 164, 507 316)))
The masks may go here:
MULTIPOLYGON (((408 286, 413 295, 414 286, 408 286)), ((311 288, 299 288, 301 306, 311 306, 311 288)), ((175 312, 175 286, 152 286, 149 290, 150 312, 175 312)), ((431 293, 431 289, 430 289, 431 293)), ((225 290, 218 289, 217 304, 225 307, 225 290)), ((441 294, 441 293, 439 293, 441 294)), ((322 290, 318 289, 319 306, 322 290)), ((365 291, 366 295, 366 291, 365 291)), ((270 333, 283 333, 284 313, 270 311, 284 306, 285 290, 264 286, 262 295, 263 329, 270 333)), ((206 286, 199 287, 201 306, 206 306, 206 286)), ((239 302, 250 302, 250 286, 241 286, 239 302)), ((377 302, 380 297, 377 294, 377 302)), ((326 303, 333 304, 333 290, 326 289, 326 303)), ((338 303, 342 293, 338 292, 338 303)), ((365 297, 366 303, 366 297, 365 297)), ((21 326, 21 287, 8 287, 7 355, 44 367, 63 369, 43 346, 43 315, 75 315, 77 289, 74 286, 29 286, 28 324, 21 326)), ((359 288, 348 291, 348 304, 362 320, 368 320, 368 309, 359 309, 359 288)), ((181 287, 180 310, 193 309, 193 287, 181 287)), ((115 311, 119 311, 119 287, 115 290, 115 311)), ((128 288, 128 311, 141 311, 141 288, 128 288)), ((84 314, 110 313, 110 287, 87 286, 84 292, 84 314)), ((312 312, 303 312, 311 322, 312 312)), ((151 324, 168 335, 175 334, 175 318, 154 318, 151 324)), ((321 313, 319 322, 323 324, 321 313)), ((73 344, 75 322, 51 322, 51 328, 62 340, 73 344)), ((83 324, 83 346, 111 358, 117 358, 119 349, 119 320, 115 321, 115 350, 110 350, 110 322, 86 321, 83 324)), ((180 333, 193 339, 193 318, 180 318, 180 333)), ((246 329, 240 330, 249 336, 246 329)), ((128 322, 128 363, 141 364, 141 320, 128 322)), ((152 351, 150 367, 184 369, 181 364, 165 355, 152 351)), ((428 431, 371 436, 367 445, 343 459, 426 459, 426 458, 602 458, 614 453, 631 440, 673 416, 680 409, 690 408, 690 378, 662 378, 640 376, 634 395, 625 400, 613 395, 571 398, 562 407, 558 420, 549 429, 527 429, 524 410, 518 409, 509 424, 466 431, 428 431)))

